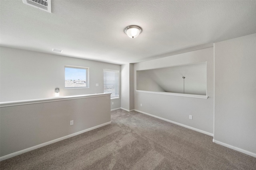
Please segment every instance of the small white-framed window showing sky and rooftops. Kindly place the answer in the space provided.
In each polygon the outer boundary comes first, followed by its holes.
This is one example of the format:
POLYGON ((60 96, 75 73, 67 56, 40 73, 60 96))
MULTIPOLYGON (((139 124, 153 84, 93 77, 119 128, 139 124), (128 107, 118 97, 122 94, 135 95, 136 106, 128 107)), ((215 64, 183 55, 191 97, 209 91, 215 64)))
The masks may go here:
POLYGON ((89 87, 88 67, 65 66, 65 88, 89 87))

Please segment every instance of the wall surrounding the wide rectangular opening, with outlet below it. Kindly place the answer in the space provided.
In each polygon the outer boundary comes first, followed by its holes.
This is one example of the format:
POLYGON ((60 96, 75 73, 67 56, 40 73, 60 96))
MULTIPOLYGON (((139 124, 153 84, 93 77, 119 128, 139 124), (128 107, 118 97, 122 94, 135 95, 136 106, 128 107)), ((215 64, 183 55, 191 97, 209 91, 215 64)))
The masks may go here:
MULTIPOLYGON (((134 64, 134 76, 136 76, 137 70, 206 62, 206 95, 208 96, 208 99, 197 99, 135 91, 134 109, 213 134, 213 58, 213 47, 210 47, 134 64), (193 120, 189 119, 189 115, 193 116, 193 120)), ((134 86, 136 87, 136 81, 134 86)))

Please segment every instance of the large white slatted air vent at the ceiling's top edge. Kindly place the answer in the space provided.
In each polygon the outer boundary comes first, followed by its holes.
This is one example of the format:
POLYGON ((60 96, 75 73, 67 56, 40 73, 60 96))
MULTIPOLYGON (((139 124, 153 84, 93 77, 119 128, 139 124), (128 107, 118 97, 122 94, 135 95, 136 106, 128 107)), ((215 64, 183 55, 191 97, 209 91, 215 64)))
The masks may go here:
POLYGON ((51 0, 22 0, 22 1, 24 4, 52 13, 51 0))

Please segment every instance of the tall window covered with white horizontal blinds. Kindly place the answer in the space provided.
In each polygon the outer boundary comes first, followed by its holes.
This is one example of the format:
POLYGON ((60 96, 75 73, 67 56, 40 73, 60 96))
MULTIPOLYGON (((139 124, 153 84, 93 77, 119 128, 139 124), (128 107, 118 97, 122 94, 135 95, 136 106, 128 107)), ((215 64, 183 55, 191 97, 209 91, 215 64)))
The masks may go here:
POLYGON ((104 70, 104 93, 111 93, 111 99, 119 97, 119 71, 104 70))

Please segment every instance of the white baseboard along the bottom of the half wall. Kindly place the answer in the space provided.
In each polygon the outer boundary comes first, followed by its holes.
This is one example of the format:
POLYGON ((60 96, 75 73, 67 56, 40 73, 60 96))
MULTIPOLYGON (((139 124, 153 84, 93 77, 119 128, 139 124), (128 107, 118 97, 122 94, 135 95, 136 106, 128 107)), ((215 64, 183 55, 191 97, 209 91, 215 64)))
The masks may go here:
POLYGON ((67 136, 63 136, 63 137, 61 137, 61 138, 57 138, 57 139, 51 140, 51 141, 49 141, 49 142, 45 142, 45 143, 42 143, 42 144, 38 144, 38 145, 36 145, 36 146, 32 146, 32 147, 30 147, 30 148, 26 148, 26 149, 20 150, 20 151, 18 151, 18 152, 14 152, 14 153, 11 153, 11 154, 2 156, 2 157, 0 157, 0 161, 6 160, 6 159, 8 159, 8 158, 12 158, 12 157, 14 157, 14 156, 23 154, 23 153, 25 153, 25 152, 29 152, 29 151, 31 151, 31 150, 35 150, 35 149, 37 149, 37 148, 41 148, 41 147, 43 147, 43 146, 46 146, 46 145, 48 145, 48 144, 52 144, 52 143, 58 142, 58 141, 60 141, 60 140, 64 140, 64 139, 70 138, 70 137, 72 137, 72 136, 76 136, 76 135, 81 134, 81 133, 84 133, 84 132, 88 132, 88 131, 90 131, 90 130, 93 130, 93 129, 96 129, 96 128, 99 128, 99 127, 103 127, 103 126, 105 126, 105 125, 109 125, 110 123, 111 123, 111 121, 110 121, 110 122, 107 122, 107 123, 103 123, 103 124, 98 125, 98 126, 95 126, 95 127, 87 128, 87 129, 85 129, 85 130, 81 130, 81 131, 76 132, 76 133, 73 133, 73 134, 69 134, 69 135, 67 135, 67 136))

